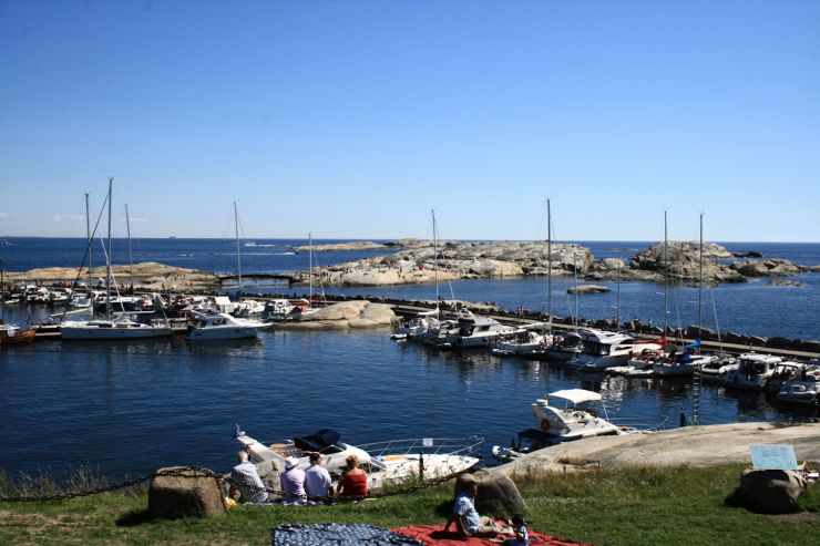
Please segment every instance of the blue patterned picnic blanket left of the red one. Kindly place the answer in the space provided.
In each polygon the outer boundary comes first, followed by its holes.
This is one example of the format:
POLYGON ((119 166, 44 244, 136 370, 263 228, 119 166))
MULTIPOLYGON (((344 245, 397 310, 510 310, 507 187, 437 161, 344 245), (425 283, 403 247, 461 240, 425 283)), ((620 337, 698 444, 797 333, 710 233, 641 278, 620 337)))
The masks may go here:
POLYGON ((407 535, 372 525, 318 523, 311 525, 283 524, 270 529, 274 546, 422 546, 407 535))

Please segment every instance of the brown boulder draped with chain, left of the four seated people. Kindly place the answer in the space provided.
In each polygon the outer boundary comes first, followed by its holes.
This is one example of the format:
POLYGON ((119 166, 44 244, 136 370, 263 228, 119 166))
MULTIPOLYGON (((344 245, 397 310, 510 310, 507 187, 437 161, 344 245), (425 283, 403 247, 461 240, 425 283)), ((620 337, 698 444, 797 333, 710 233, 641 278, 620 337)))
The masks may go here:
POLYGON ((148 488, 153 517, 216 517, 225 513, 219 481, 213 474, 184 466, 160 468, 148 488))

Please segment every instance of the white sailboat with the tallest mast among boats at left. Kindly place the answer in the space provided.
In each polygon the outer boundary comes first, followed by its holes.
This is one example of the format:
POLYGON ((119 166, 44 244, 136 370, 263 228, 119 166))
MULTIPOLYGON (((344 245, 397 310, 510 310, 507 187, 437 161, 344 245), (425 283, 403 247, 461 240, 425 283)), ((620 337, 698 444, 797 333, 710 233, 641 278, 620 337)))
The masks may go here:
POLYGON ((62 339, 73 340, 112 340, 112 339, 142 339, 172 336, 170 326, 145 324, 132 320, 127 313, 111 312, 111 200, 114 190, 114 178, 109 178, 109 235, 105 256, 105 317, 102 319, 63 322, 60 327, 62 339))

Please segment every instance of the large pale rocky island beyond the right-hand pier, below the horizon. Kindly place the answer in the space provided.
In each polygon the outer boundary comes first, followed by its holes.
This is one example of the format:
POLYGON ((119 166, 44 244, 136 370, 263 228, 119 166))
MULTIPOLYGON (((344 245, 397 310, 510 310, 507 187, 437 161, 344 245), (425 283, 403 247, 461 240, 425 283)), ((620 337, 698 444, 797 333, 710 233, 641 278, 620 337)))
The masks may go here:
MULTIPOLYGON (((312 270, 314 281, 325 286, 387 286, 433 282, 450 279, 513 278, 526 276, 568 276, 584 280, 663 281, 665 276, 680 284, 697 284, 703 271, 707 285, 745 282, 762 277, 790 277, 818 267, 801 267, 780 258, 740 259, 720 245, 705 243, 703 262, 697 241, 658 243, 633 255, 628 260, 595 259, 592 251, 577 244, 552 244, 552 260, 544 241, 462 243, 402 239, 401 250, 372 258, 338 264, 312 270), (666 258, 665 258, 666 256, 666 258), (552 271, 547 268, 552 264, 552 271)), ((757 253, 744 256, 759 256, 757 253)), ((308 271, 294 276, 294 284, 309 281, 308 271)), ((594 291, 594 290, 584 290, 594 291)))

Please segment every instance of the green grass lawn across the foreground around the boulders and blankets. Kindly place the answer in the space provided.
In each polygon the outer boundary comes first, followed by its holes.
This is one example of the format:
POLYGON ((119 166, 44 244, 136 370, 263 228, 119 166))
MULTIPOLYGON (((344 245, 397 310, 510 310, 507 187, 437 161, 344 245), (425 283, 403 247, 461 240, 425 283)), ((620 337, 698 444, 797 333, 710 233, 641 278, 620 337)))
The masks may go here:
MULTIPOLYGON (((543 478, 515 476, 531 528, 598 545, 814 545, 820 486, 801 498, 806 512, 763 516, 727 506, 742 465, 713 468, 592 470, 543 478)), ((34 482, 29 483, 29 493, 34 482)), ((53 487, 53 484, 51 485, 53 487)), ((78 485, 75 485, 78 490, 78 485)), ((10 494, 0 475, 0 492, 10 494)), ((331 507, 237 506, 214 519, 152 521, 143 491, 32 504, 0 503, 0 544, 270 544, 280 523, 367 523, 381 527, 442 524, 452 486, 331 507)))

